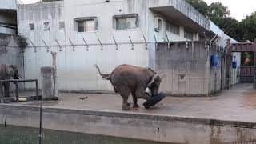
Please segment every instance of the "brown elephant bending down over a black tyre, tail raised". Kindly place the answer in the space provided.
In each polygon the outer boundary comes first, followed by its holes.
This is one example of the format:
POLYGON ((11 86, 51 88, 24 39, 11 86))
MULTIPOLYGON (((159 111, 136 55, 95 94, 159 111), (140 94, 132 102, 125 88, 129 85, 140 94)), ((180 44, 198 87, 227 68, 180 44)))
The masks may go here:
POLYGON ((98 66, 95 66, 102 78, 110 80, 115 93, 122 96, 122 110, 130 110, 130 104, 127 102, 130 93, 133 96, 134 108, 138 108, 137 98, 152 98, 146 94, 146 88, 151 90, 152 96, 158 94, 161 78, 150 68, 124 64, 116 67, 111 74, 102 74, 98 66))

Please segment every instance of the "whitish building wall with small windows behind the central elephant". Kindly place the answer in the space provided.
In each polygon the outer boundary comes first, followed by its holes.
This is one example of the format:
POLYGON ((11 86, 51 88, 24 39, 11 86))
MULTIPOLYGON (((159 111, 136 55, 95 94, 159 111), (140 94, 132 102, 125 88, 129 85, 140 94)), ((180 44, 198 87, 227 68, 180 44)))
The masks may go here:
MULTIPOLYGON (((150 66, 150 50, 154 49, 154 44, 150 42, 155 42, 154 35, 158 41, 166 40, 166 28, 162 33, 154 31, 154 16, 158 14, 149 10, 148 5, 148 1, 145 0, 110 2, 65 0, 19 5, 18 32, 26 35, 37 46, 36 52, 31 44, 25 50, 26 78, 40 79, 40 67, 51 65, 50 53, 46 52, 46 46, 42 42, 44 40, 50 47, 50 51, 58 52, 58 86, 61 90, 113 91, 110 82, 103 81, 99 76, 94 64, 98 64, 104 73, 110 73, 116 66, 123 63, 150 66), (113 28, 112 17, 114 15, 134 13, 139 15, 137 29, 115 30, 113 28), (82 33, 74 30, 74 18, 90 16, 98 18, 98 30, 82 33), (50 30, 43 30, 43 22, 50 22, 50 30), (59 30, 58 22, 65 22, 65 30, 59 30), (29 30, 30 23, 34 23, 35 26, 32 31, 29 30), (149 42, 147 46, 143 35, 149 42), (129 36, 134 42, 134 50, 131 50, 129 36), (113 37, 118 42, 118 50, 116 50, 113 37), (86 50, 82 38, 89 44, 89 50, 86 50), (103 50, 101 50, 98 38, 102 42, 103 50), (69 39, 74 44, 75 51, 69 39), (56 40, 62 46, 62 51, 59 51, 56 40)), ((165 18, 164 21, 166 21, 165 18)), ((174 37, 173 34, 168 34, 170 40, 185 40, 183 29, 181 26, 179 36, 174 37)), ((32 88, 33 86, 28 84, 26 87, 32 88)))

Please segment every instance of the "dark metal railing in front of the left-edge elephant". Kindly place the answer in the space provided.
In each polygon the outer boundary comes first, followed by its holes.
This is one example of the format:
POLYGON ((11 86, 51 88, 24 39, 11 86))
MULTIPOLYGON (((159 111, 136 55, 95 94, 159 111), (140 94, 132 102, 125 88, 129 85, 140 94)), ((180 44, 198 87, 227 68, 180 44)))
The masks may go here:
MULTIPOLYGON (((9 79, 9 80, 0 80, 0 82, 14 82, 14 84, 15 84, 15 93, 16 93, 15 101, 16 102, 19 102, 19 98, 23 98, 23 97, 19 97, 18 83, 19 82, 35 82, 35 87, 36 87, 35 98, 36 98, 36 100, 40 100, 40 98, 39 98, 38 79, 9 79)), ((2 99, 0 99, 0 102, 5 102, 5 100, 12 101, 13 98, 4 98, 4 95, 5 94, 2 94, 2 99)))

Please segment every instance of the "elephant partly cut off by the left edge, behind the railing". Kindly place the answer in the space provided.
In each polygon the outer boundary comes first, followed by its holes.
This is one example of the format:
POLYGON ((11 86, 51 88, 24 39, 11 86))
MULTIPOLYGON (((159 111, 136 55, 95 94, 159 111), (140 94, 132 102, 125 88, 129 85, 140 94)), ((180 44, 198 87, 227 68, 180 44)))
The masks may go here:
MULTIPOLYGON (((16 65, 0 64, 0 80, 8 80, 10 78, 19 79, 18 67, 16 65)), ((10 82, 0 82, 0 98, 2 96, 2 86, 4 86, 5 97, 10 97, 10 82)))

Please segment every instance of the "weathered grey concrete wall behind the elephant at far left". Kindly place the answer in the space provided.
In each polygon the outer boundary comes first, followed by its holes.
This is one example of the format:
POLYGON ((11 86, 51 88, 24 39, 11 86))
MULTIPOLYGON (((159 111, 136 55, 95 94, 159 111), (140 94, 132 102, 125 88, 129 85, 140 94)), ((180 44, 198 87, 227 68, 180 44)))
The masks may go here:
MULTIPOLYGON (((14 64, 18 66, 21 78, 23 74, 23 58, 22 52, 18 47, 18 36, 10 34, 0 34, 0 64, 14 64), (6 43, 9 42, 6 46, 6 43)), ((22 84, 20 85, 22 88, 22 84)), ((11 84, 11 90, 14 90, 14 85, 11 84)))

